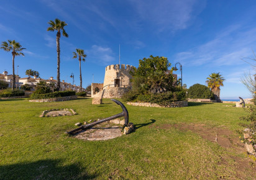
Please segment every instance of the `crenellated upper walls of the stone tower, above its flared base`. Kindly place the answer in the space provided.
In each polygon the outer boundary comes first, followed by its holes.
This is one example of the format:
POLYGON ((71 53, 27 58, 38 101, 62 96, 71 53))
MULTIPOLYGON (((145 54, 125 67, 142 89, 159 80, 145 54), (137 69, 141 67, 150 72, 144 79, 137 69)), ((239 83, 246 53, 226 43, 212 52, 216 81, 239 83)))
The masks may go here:
POLYGON ((105 78, 104 78, 104 89, 107 87, 114 87, 114 84, 119 81, 120 88, 127 88, 130 86, 130 71, 133 69, 133 66, 130 65, 109 65, 105 69, 105 78), (117 79, 117 81, 115 80, 117 79), (119 79, 119 80, 118 80, 119 79))

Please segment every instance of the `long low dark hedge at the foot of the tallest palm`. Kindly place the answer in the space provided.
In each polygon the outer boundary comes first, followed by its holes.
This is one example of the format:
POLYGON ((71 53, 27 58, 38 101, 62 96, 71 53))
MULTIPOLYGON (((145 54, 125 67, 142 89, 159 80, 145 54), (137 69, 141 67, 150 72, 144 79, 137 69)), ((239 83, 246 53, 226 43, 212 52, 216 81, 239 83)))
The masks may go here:
POLYGON ((65 97, 65 96, 74 96, 76 95, 75 91, 57 91, 57 92, 50 92, 46 94, 38 94, 34 92, 31 94, 30 99, 49 99, 54 97, 65 97))

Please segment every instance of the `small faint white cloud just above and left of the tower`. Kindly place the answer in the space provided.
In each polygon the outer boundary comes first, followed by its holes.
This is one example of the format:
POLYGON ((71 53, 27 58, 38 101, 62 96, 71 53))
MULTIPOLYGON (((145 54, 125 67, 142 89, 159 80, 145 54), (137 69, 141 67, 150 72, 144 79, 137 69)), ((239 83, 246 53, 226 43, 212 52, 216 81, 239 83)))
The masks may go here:
POLYGON ((87 58, 95 60, 100 65, 109 65, 109 63, 115 60, 114 53, 109 47, 93 45, 89 50, 85 50, 85 53, 87 58))

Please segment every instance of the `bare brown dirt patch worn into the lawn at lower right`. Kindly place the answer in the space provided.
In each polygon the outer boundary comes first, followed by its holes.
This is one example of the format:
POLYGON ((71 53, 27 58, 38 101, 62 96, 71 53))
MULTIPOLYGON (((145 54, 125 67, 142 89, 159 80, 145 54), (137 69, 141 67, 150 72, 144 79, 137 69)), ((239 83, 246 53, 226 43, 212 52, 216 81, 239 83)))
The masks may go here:
MULTIPOLYGON (((152 126, 153 128, 153 126, 152 126)), ((207 139, 211 142, 218 143, 223 148, 234 153, 245 153, 244 143, 240 142, 238 135, 234 134, 231 130, 217 127, 207 127, 204 124, 163 124, 156 128, 159 129, 170 129, 178 128, 182 131, 191 130, 192 132, 198 133, 202 138, 207 139)), ((240 158, 238 156, 229 155, 229 158, 235 160, 237 178, 246 179, 243 177, 242 172, 246 170, 251 171, 256 174, 255 162, 250 160, 250 158, 240 158)), ((221 158, 219 164, 227 164, 227 158, 221 158)))

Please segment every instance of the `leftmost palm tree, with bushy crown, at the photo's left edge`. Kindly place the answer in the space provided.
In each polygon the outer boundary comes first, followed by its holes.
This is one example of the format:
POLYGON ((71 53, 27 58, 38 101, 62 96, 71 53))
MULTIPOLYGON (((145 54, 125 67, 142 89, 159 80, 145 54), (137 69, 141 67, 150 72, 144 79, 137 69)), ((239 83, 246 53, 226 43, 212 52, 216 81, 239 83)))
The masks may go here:
POLYGON ((21 44, 19 42, 16 42, 15 40, 7 40, 7 42, 2 42, 1 48, 4 49, 6 52, 12 52, 12 91, 14 90, 15 86, 15 73, 14 73, 14 58, 15 56, 22 55, 24 56, 24 53, 22 53, 22 50, 25 50, 25 48, 22 48, 21 44))

